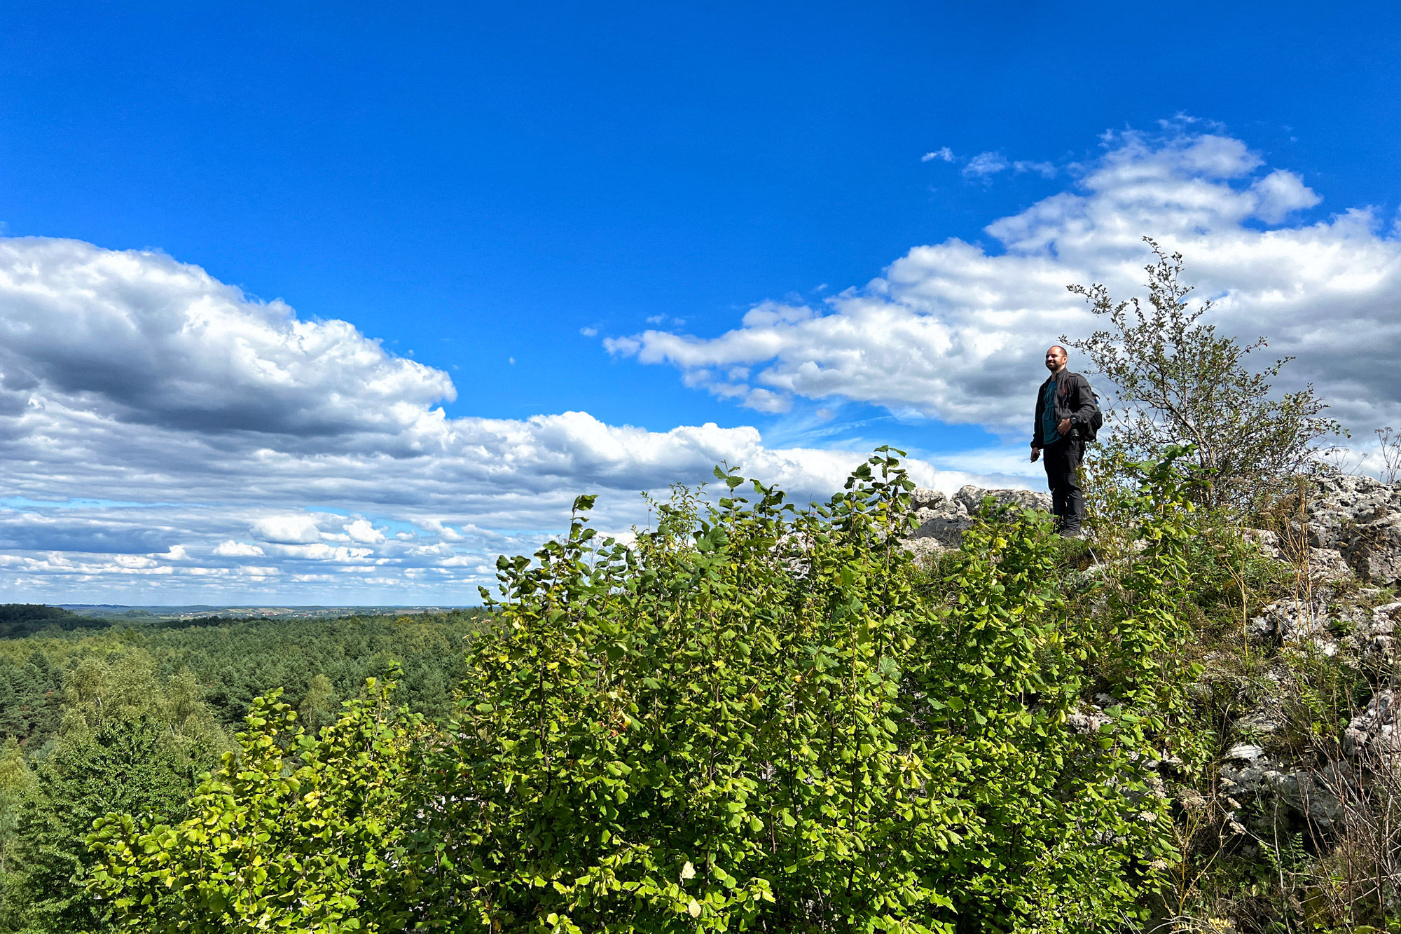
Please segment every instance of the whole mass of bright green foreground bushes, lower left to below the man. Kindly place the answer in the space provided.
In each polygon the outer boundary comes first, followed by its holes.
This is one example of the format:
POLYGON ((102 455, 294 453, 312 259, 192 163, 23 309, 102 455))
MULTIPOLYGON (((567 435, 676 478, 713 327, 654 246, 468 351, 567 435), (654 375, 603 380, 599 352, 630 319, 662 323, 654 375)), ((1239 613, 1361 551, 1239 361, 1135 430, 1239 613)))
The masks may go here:
MULTIPOLYGON (((925 576, 878 450, 824 506, 733 471, 632 546, 502 558, 440 731, 387 689, 319 739, 276 697, 178 826, 112 815, 129 930, 1090 931, 1177 860, 1150 759, 1185 680, 1171 466, 1143 474, 1114 637, 1044 516, 985 505, 925 576), (752 491, 752 492, 750 492, 752 491), (744 494, 744 495, 741 495, 744 494), (1126 701, 1079 717, 1091 652, 1126 701), (1079 724, 1073 728, 1075 724, 1079 724)), ((312 705, 315 707, 315 705, 312 705)))

